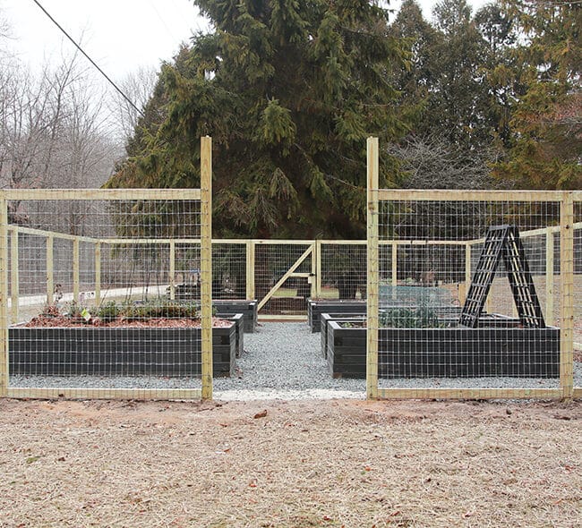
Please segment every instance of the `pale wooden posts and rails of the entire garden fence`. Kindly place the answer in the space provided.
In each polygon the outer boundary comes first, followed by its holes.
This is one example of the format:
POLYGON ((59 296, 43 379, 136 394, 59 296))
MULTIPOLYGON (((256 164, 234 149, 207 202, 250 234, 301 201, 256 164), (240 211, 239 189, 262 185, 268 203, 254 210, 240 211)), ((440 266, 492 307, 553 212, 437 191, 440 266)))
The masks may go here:
MULTIPOLYGON (((552 191, 513 191, 510 198, 507 192, 496 191, 420 191, 420 190, 386 190, 379 189, 379 146, 376 138, 367 141, 367 239, 365 241, 342 240, 240 240, 211 238, 211 177, 212 177, 212 143, 211 139, 201 138, 201 189, 165 189, 165 190, 6 190, 0 191, 0 397, 90 397, 90 398, 205 398, 212 397, 212 357, 211 357, 211 269, 212 243, 244 244, 246 247, 246 296, 254 298, 254 269, 255 248, 261 244, 309 244, 312 251, 312 296, 321 295, 321 248, 324 244, 367 245, 367 379, 366 393, 368 398, 571 398, 582 397, 582 387, 574 387, 573 382, 573 257, 575 228, 582 228, 582 223, 574 224, 574 203, 582 202, 582 192, 552 192, 552 191), (21 226, 8 225, 9 200, 201 200, 201 238, 200 239, 156 239, 156 240, 126 240, 126 239, 97 239, 92 237, 57 234, 39 229, 30 229, 21 226), (391 245, 391 281, 397 284, 398 279, 398 246, 409 245, 410 241, 379 240, 378 211, 379 202, 383 200, 484 200, 484 201, 531 201, 543 200, 560 203, 560 226, 544 227, 522 236, 545 234, 550 240, 553 234, 560 233, 561 259, 561 367, 559 388, 383 388, 378 387, 378 285, 379 269, 378 255, 381 245, 391 245), (9 387, 8 379, 8 320, 14 319, 18 313, 18 276, 12 274, 12 310, 8 312, 8 267, 18 269, 18 265, 8 261, 8 233, 13 231, 38 234, 47 237, 47 263, 53 258, 53 243, 58 238, 73 241, 73 255, 78 255, 79 243, 95 243, 96 255, 96 297, 100 297, 100 254, 105 244, 112 243, 168 243, 170 255, 175 251, 175 243, 201 244, 201 306, 202 306, 202 388, 201 389, 91 389, 91 388, 18 388, 9 387), (76 249, 75 249, 76 248, 76 249)), ((466 248, 466 284, 471 279, 471 247, 482 243, 482 240, 471 241, 414 241, 413 244, 445 244, 464 245, 466 248)), ((11 237, 11 252, 18 255, 18 236, 11 237)), ((73 275, 79 276, 78 259, 73 259, 73 275)), ((170 289, 175 285, 175 268, 170 256, 170 289)), ((546 244, 546 267, 553 268, 553 244, 546 244)), ((53 278, 50 266, 47 266, 47 302, 51 302, 53 292, 53 278)), ((287 272, 287 278, 294 275, 294 270, 287 272)), ((546 277, 546 311, 552 311, 553 274, 546 277)), ((459 285, 460 287, 460 285, 459 285)), ((73 280, 73 298, 78 297, 78 279, 73 280), (76 283, 76 286, 75 286, 76 283)))

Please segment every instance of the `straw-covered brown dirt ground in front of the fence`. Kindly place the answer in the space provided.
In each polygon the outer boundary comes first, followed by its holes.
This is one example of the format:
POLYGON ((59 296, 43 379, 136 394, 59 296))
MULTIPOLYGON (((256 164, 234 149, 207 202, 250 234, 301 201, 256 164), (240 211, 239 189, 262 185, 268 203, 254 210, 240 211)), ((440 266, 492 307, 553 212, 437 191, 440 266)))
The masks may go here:
POLYGON ((0 526, 582 526, 582 403, 0 400, 0 526))

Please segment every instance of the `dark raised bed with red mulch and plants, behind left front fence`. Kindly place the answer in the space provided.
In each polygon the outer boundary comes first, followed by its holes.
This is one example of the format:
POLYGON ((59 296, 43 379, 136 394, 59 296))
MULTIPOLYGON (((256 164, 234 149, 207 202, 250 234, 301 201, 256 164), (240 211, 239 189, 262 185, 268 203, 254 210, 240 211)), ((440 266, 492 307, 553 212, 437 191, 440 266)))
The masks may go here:
MULTIPOLYGON (((240 314, 212 320, 215 376, 234 371, 241 323, 240 314)), ((108 302, 88 309, 71 303, 67 312, 47 306, 9 328, 8 340, 10 372, 24 376, 201 375, 201 325, 193 304, 108 302)))

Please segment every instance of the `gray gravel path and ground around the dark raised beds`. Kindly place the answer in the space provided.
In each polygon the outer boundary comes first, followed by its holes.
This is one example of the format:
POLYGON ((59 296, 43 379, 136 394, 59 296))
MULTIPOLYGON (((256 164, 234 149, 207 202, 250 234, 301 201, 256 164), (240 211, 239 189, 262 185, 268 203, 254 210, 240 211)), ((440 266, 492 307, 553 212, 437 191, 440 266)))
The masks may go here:
MULTIPOLYGON (((232 378, 214 380, 214 397, 224 400, 365 397, 364 379, 332 379, 321 357, 321 334, 307 324, 262 323, 244 335, 244 354, 232 378)), ((575 386, 582 386, 582 363, 574 365, 575 386)), ((11 387, 197 388, 199 379, 153 377, 11 376, 11 387)), ((559 387, 558 379, 381 379, 380 387, 559 387)))

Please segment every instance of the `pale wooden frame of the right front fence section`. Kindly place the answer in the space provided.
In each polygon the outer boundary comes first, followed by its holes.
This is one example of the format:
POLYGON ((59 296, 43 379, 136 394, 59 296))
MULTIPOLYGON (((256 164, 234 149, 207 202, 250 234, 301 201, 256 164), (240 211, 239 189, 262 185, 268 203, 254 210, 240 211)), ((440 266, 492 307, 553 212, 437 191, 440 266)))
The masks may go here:
MULTIPOLYGON (((368 351, 367 351, 367 397, 369 399, 443 398, 443 399, 497 399, 497 398, 542 398, 570 399, 582 397, 582 387, 574 387, 573 379, 573 277, 574 277, 574 224, 575 201, 582 201, 579 191, 448 191, 448 190, 388 190, 378 189, 378 147, 375 138, 368 140, 368 351), (561 259, 561 343, 560 343, 560 387, 558 388, 379 388, 378 387, 378 288, 379 274, 373 255, 377 251, 378 211, 380 201, 551 201, 560 204, 560 226, 524 232, 524 236, 545 234, 549 240, 560 233, 561 259), (372 260, 372 261, 371 261, 372 260)), ((470 275, 470 247, 482 240, 463 242, 466 244, 466 282, 470 275)), ((389 242, 390 243, 390 242, 389 242)), ((392 242, 393 243, 393 242, 392 242)), ((407 242, 409 243, 409 242, 407 242)), ((419 243, 424 243, 420 242, 419 243)), ((377 257, 376 259, 377 260, 377 257)), ((552 250, 546 249, 546 266, 553 268, 552 250), (548 264, 550 263, 550 264, 548 264)), ((552 273, 553 276, 553 273, 552 273)), ((546 291, 553 293, 553 279, 546 279, 546 291)), ((546 300, 547 301, 547 300, 546 300)), ((550 301, 552 302, 552 301, 550 301)), ((547 308, 547 307, 546 307, 547 308)))

